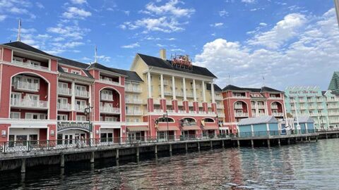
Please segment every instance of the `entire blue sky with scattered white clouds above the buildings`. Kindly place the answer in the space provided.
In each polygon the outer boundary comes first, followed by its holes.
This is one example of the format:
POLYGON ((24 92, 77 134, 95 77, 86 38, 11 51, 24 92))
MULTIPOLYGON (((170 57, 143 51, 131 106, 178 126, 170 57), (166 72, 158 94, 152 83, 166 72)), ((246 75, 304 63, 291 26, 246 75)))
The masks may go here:
POLYGON ((0 0, 1 44, 129 70, 167 50, 208 68, 220 87, 327 89, 339 70, 333 0, 0 0))

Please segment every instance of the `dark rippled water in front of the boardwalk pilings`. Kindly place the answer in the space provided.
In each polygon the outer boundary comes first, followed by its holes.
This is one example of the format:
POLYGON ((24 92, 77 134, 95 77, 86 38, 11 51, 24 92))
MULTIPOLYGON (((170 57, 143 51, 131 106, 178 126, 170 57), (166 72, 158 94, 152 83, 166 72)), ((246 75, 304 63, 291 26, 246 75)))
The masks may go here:
POLYGON ((339 139, 225 148, 119 163, 101 160, 0 177, 0 189, 339 189, 339 139))

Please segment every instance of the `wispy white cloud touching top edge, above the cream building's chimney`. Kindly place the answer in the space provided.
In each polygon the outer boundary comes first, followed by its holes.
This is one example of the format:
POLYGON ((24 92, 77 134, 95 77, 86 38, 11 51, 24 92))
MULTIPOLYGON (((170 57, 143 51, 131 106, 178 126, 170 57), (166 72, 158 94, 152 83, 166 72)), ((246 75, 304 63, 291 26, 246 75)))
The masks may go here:
POLYGON ((195 12, 194 8, 180 8, 177 4, 184 4, 179 0, 170 0, 163 6, 155 6, 153 3, 146 5, 146 13, 155 13, 156 15, 165 15, 167 13, 176 17, 190 16, 195 12))

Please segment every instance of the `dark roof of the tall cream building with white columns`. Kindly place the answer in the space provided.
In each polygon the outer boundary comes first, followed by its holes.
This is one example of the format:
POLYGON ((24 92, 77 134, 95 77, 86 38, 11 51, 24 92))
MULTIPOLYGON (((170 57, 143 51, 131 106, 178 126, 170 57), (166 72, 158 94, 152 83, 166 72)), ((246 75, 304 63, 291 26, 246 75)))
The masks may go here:
POLYGON ((187 69, 173 67, 172 64, 171 64, 171 61, 163 60, 162 58, 157 58, 157 57, 153 57, 153 56, 147 56, 147 55, 143 55, 141 53, 138 53, 138 56, 140 56, 141 59, 143 59, 143 61, 148 66, 153 66, 153 67, 157 67, 157 68, 171 69, 171 70, 177 70, 177 71, 182 71, 182 72, 190 72, 190 73, 196 74, 196 75, 203 75, 203 76, 207 76, 207 77, 216 78, 216 76, 213 75, 213 73, 210 72, 210 70, 208 70, 207 68, 202 68, 202 67, 193 65, 193 68, 191 70, 187 70, 187 69))

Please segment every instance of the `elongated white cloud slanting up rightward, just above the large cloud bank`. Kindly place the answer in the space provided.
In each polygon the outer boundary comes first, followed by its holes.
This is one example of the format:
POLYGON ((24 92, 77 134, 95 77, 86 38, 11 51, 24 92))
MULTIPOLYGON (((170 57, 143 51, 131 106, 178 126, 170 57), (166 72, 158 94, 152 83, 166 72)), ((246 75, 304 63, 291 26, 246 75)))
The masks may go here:
POLYGON ((286 15, 284 20, 280 20, 271 30, 256 34, 253 39, 249 39, 248 43, 278 49, 289 39, 296 37, 298 29, 306 23, 305 15, 299 13, 286 15))

